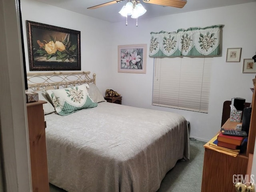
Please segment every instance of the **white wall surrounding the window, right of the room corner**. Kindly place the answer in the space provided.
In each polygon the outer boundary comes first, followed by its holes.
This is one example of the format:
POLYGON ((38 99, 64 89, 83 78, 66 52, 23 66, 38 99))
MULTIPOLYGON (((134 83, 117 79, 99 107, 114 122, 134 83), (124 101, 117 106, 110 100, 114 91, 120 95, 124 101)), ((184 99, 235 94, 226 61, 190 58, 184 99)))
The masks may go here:
MULTIPOLYGON (((225 100, 242 97, 251 102, 252 79, 255 74, 243 74, 244 58, 252 58, 256 52, 256 2, 200 10, 183 14, 174 14, 149 20, 128 18, 124 22, 112 24, 114 44, 112 45, 111 88, 122 94, 122 104, 175 112, 190 121, 190 136, 207 141, 220 129, 222 105, 225 100), (205 27, 224 24, 222 30, 222 55, 215 57, 212 63, 210 101, 208 114, 152 106, 152 82, 154 60, 147 57, 146 74, 126 74, 117 72, 117 46, 126 44, 150 45, 150 32, 161 30, 172 32, 179 28, 205 27), (240 62, 225 62, 227 48, 242 48, 240 62)), ((150 13, 147 13, 150 14, 150 13)), ((148 53, 147 53, 148 54, 148 53)))

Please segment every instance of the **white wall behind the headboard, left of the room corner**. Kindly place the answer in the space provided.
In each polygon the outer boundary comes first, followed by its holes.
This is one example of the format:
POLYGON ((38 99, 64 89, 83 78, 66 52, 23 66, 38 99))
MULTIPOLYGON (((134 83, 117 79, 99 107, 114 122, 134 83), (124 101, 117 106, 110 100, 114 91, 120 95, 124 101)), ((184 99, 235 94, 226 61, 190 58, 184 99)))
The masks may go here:
POLYGON ((106 79, 110 73, 110 68, 105 61, 108 58, 109 52, 111 52, 108 49, 111 42, 109 22, 50 6, 35 0, 21 0, 21 10, 26 69, 28 72, 26 20, 80 31, 81 70, 90 71, 91 75, 96 73, 96 84, 98 88, 102 91, 105 89, 105 84, 107 84, 106 79))

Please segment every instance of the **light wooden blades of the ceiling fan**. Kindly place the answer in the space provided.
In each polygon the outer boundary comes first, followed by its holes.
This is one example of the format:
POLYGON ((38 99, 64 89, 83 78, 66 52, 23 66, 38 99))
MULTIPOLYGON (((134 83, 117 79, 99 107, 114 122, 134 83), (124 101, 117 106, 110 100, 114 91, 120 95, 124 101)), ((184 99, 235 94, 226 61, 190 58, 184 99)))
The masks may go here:
MULTIPOLYGON (((133 0, 115 0, 110 1, 107 3, 99 4, 96 6, 88 7, 87 9, 96 9, 107 5, 112 5, 115 3, 120 3, 124 1, 133 1, 133 0)), ((137 1, 136 1, 137 2, 137 1)), ((187 3, 186 0, 143 0, 144 3, 151 3, 156 5, 162 5, 162 6, 170 6, 170 7, 176 7, 176 8, 183 8, 185 4, 187 3)))

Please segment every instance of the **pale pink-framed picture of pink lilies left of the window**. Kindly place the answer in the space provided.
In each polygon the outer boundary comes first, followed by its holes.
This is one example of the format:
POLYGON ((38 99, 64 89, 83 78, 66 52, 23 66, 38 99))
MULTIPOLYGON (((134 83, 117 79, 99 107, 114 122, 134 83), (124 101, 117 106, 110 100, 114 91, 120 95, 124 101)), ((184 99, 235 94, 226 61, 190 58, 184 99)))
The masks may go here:
POLYGON ((147 44, 119 45, 118 72, 146 74, 147 44))

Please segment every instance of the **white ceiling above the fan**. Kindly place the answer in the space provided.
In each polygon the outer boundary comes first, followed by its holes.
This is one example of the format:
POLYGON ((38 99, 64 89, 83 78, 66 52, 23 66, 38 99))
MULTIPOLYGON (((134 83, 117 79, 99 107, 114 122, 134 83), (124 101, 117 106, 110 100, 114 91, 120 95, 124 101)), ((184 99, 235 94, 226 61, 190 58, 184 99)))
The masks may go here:
MULTIPOLYGON (((87 9, 88 7, 96 6, 98 4, 110 2, 111 0, 37 0, 46 4, 57 6, 66 10, 84 14, 90 17, 98 18, 108 22, 121 22, 125 18, 118 12, 126 1, 104 6, 97 9, 87 9)), ((152 18, 157 16, 164 16, 170 14, 177 14, 183 12, 190 12, 196 10, 203 10, 209 8, 230 6, 248 2, 255 2, 256 0, 187 0, 184 8, 164 7, 160 5, 144 3, 142 5, 146 8, 147 12, 140 18, 152 18)), ((129 17, 129 16, 128 16, 129 17)))

